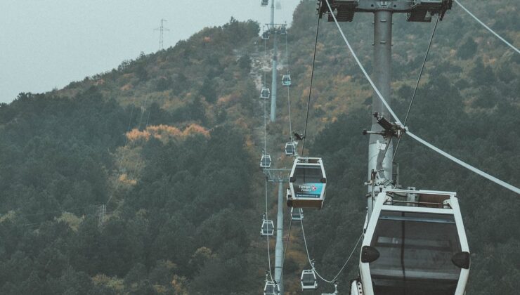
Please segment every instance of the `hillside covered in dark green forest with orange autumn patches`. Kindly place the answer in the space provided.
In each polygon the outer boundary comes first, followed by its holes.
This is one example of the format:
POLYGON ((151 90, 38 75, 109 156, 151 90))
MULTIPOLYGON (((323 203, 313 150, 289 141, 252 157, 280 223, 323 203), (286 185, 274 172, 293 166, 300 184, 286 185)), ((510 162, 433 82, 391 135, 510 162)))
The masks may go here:
MULTIPOLYGON (((474 2, 474 13, 520 44, 514 1, 474 2)), ((296 131, 304 129, 315 8, 302 1, 287 34, 296 131)), ((359 13, 342 24, 368 72, 371 21, 359 13)), ((400 116, 432 26, 394 18, 392 104, 400 116)), ((259 237, 259 87, 271 51, 258 36, 257 23, 231 19, 65 89, 20 93, 0 105, 0 294, 260 294, 268 261, 259 237)), ((285 38, 280 44, 281 77, 285 38)), ((520 55, 454 6, 438 25, 408 125, 519 186, 518 93, 520 55)), ((307 136, 308 155, 324 159, 328 192, 324 209, 306 211, 304 223, 325 277, 341 268, 363 225, 368 138, 361 131, 370 126, 371 96, 336 27, 322 22, 307 136)), ((273 164, 289 166, 281 156, 289 136, 281 86, 277 122, 267 131, 273 164)), ((460 196, 472 251, 467 293, 516 294, 519 196, 409 138, 396 161, 401 185, 460 196)), ((270 216, 276 190, 269 185, 270 216)), ((287 294, 299 293, 305 255, 293 226, 287 294)), ((342 293, 357 277, 356 255, 339 277, 342 293)), ((320 282, 317 294, 330 291, 320 282)))

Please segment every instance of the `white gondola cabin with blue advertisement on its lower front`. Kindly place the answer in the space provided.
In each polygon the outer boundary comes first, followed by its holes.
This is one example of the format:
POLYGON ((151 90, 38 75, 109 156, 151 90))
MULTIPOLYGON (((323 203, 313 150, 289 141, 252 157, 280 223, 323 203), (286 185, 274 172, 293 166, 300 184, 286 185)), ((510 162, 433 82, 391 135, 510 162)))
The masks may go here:
POLYGON ((323 208, 327 178, 321 158, 297 157, 289 179, 287 206, 323 208))

